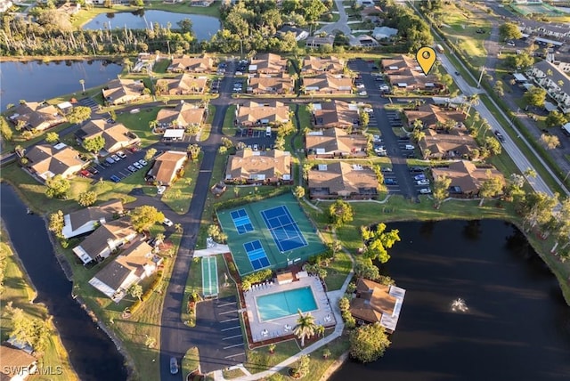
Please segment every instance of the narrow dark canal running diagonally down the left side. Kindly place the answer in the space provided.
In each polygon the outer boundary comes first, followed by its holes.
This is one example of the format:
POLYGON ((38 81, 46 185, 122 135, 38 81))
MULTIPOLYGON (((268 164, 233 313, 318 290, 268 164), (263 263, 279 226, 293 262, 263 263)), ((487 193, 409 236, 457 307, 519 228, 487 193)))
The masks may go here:
POLYGON ((0 207, 12 245, 37 288, 37 302, 53 315, 69 360, 82 381, 123 381, 123 356, 87 313, 71 297, 71 283, 53 255, 53 248, 38 215, 26 206, 11 186, 0 184, 0 207))

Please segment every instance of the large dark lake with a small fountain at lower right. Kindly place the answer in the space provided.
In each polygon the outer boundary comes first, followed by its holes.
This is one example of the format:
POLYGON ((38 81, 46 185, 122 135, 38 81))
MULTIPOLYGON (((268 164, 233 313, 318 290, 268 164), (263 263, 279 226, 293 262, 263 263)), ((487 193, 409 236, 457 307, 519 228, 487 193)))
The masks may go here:
POLYGON ((385 273, 406 289, 379 361, 347 361, 341 381, 562 380, 570 307, 524 235, 500 221, 389 223, 401 242, 385 273), (452 312, 462 298, 467 312, 452 312))

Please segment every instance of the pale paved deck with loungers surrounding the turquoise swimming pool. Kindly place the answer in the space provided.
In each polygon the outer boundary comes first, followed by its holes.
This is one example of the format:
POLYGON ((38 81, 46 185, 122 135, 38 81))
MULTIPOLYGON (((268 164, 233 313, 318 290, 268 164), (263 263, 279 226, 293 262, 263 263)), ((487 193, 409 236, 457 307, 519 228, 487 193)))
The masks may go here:
POLYGON ((315 323, 326 328, 334 327, 337 324, 335 315, 330 308, 329 297, 322 287, 321 280, 317 277, 308 276, 283 285, 278 285, 273 281, 271 284, 257 285, 244 293, 248 324, 254 343, 280 337, 289 338, 289 336, 293 335, 293 329, 297 326, 298 319, 298 314, 295 313, 283 318, 262 321, 259 319, 255 298, 257 296, 264 296, 296 288, 305 288, 307 286, 313 290, 314 301, 317 304, 317 310, 311 312, 314 316, 315 323))

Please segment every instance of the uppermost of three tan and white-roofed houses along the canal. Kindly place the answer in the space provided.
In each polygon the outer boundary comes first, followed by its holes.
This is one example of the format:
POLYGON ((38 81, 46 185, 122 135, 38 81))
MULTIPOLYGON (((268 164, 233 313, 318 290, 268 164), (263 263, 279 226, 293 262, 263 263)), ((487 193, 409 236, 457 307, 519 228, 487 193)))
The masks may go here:
POLYGON ((61 234, 66 239, 77 237, 94 231, 97 226, 108 223, 120 215, 123 215, 123 202, 120 199, 111 199, 97 207, 85 207, 63 215, 64 225, 61 234))

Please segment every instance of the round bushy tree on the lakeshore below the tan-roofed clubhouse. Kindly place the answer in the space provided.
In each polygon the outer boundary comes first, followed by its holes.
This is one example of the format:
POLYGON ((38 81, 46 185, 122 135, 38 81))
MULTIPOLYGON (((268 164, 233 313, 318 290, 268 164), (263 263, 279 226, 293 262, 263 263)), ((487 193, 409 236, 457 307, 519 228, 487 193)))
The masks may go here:
POLYGON ((379 323, 368 324, 350 333, 350 355, 357 361, 371 362, 384 355, 390 340, 379 323))

